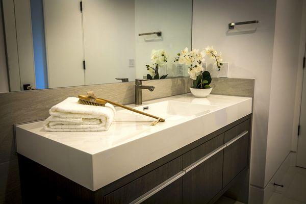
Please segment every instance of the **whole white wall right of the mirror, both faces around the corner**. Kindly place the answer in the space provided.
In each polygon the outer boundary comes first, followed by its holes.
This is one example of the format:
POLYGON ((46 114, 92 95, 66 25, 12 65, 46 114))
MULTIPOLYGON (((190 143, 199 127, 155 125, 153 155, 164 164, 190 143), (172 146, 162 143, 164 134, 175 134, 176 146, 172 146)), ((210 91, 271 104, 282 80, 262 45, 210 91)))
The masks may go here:
MULTIPOLYGON (((250 184, 262 191, 296 149, 306 37, 303 1, 194 0, 192 47, 214 45, 230 63, 229 77, 255 78, 250 184), (247 20, 259 24, 227 28, 247 20)), ((208 63, 217 77, 215 65, 208 63)))

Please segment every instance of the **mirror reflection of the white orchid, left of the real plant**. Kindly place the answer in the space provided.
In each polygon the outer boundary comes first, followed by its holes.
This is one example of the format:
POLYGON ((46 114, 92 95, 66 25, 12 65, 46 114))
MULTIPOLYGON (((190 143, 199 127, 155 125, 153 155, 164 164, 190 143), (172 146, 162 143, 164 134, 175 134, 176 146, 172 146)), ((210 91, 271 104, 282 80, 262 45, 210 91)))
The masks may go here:
POLYGON ((159 77, 158 68, 167 64, 167 59, 169 58, 168 54, 164 49, 152 50, 151 53, 151 63, 150 65, 145 65, 149 74, 147 74, 147 79, 149 80, 158 80, 165 79, 168 74, 162 75, 159 77))

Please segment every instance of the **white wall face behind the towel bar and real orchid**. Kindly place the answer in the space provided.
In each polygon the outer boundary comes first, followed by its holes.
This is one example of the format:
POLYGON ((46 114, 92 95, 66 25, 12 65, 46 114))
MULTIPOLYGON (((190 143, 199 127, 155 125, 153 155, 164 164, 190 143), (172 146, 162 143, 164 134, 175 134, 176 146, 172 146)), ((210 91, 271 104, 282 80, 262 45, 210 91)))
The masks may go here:
POLYGON ((230 63, 230 78, 255 78, 250 182, 259 187, 264 186, 266 164, 275 5, 276 1, 265 0, 193 3, 192 47, 214 45, 223 53, 223 61, 230 63), (228 30, 228 23, 248 20, 259 24, 228 30))

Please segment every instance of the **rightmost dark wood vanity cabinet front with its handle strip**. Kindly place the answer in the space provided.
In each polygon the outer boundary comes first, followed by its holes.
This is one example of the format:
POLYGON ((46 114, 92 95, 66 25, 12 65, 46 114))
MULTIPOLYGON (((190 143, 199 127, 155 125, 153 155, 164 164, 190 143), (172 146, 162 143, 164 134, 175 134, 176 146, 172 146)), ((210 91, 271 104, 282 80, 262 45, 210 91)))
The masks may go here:
POLYGON ((249 122, 246 120, 224 133, 224 141, 230 144, 224 148, 223 188, 248 165, 249 122))

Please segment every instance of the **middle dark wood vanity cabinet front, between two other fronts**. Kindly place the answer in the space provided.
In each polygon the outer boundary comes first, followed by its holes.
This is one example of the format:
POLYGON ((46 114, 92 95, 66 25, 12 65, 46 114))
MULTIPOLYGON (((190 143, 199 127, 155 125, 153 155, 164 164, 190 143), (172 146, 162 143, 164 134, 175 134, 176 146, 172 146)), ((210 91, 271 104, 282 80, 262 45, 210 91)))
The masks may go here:
POLYGON ((183 176, 183 203, 208 203, 222 190, 223 150, 218 150, 222 145, 223 134, 183 155, 183 165, 189 165, 183 176), (212 152, 217 153, 188 171, 212 152))

